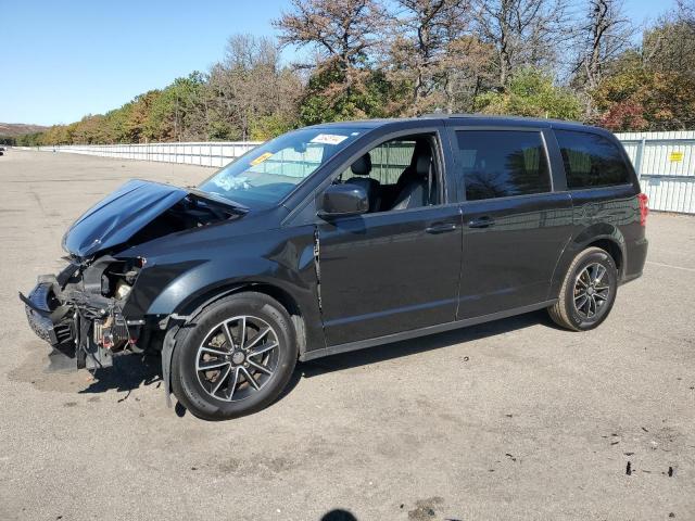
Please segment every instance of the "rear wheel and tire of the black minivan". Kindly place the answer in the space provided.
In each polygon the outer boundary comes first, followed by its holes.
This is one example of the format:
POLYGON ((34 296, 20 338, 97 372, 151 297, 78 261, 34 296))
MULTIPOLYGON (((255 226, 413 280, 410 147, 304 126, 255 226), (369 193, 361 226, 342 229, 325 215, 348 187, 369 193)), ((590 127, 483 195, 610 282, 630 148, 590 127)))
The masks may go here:
POLYGON ((601 247, 587 247, 570 264, 558 301, 547 310, 558 326, 587 331, 608 317, 617 290, 618 269, 612 257, 601 247), (597 280, 592 280, 594 276, 597 280))

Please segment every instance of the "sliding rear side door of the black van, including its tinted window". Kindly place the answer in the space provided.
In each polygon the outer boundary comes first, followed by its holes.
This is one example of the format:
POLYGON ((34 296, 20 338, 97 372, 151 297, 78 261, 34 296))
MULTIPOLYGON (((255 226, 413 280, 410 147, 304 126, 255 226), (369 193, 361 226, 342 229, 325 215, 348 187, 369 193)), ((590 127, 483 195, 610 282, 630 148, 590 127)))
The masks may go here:
POLYGON ((571 198, 551 168, 558 162, 548 154, 552 139, 540 128, 454 129, 464 201, 458 319, 548 300, 572 231, 571 198))

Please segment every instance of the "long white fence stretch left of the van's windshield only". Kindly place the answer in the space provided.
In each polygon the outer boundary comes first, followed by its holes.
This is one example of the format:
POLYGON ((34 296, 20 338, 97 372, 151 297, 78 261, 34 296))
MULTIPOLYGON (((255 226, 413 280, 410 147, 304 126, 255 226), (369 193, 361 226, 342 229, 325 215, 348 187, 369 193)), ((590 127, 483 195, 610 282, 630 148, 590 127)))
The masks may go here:
POLYGON ((99 155, 119 160, 161 161, 200 166, 225 166, 261 144, 258 141, 147 143, 147 144, 70 144, 39 147, 39 150, 99 155))

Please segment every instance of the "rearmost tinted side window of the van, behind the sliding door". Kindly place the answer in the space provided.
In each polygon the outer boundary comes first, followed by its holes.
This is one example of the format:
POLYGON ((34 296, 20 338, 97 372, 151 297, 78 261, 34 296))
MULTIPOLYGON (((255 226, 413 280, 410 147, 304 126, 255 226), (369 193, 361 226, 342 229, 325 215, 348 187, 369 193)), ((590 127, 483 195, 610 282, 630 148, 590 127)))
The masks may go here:
POLYGON ((560 145, 567 188, 627 185, 630 174, 622 153, 610 140, 589 132, 555 130, 560 145))

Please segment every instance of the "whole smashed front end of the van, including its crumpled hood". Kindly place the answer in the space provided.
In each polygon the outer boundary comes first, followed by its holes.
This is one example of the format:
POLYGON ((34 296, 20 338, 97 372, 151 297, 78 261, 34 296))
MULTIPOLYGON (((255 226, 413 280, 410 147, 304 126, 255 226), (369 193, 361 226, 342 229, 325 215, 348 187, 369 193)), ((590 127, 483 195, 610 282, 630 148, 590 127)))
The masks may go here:
POLYGON ((78 368, 109 367, 114 353, 126 348, 161 351, 168 315, 148 316, 149 305, 198 262, 175 260, 157 269, 155 260, 146 269, 147 260, 134 249, 239 219, 247 211, 192 188, 126 182, 66 231, 67 267, 39 277, 28 296, 20 293, 29 326, 40 339, 75 358, 78 368), (136 281, 139 291, 134 290, 136 281))

